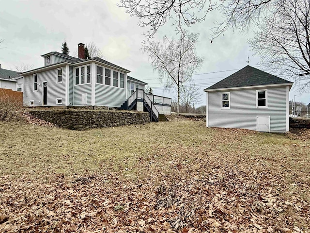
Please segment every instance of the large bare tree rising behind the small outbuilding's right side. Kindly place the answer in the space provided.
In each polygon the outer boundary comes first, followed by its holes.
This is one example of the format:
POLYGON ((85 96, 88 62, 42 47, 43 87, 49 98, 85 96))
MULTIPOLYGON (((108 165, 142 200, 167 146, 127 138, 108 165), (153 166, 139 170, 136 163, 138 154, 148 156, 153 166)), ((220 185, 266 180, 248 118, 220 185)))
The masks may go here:
MULTIPOLYGON (((279 3, 280 4, 280 3, 279 3)), ((304 90, 310 87, 310 1, 285 0, 249 40, 261 65, 304 90)))

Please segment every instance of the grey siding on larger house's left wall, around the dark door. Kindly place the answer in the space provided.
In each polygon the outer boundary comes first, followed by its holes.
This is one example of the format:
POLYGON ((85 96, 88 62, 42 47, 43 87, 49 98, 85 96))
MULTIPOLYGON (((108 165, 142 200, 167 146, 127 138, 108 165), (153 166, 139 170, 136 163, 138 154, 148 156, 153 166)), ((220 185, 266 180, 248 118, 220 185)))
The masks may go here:
POLYGON ((57 69, 38 73, 38 90, 33 91, 33 76, 24 77, 24 104, 34 101, 34 106, 42 106, 42 83, 47 82, 47 106, 65 105, 65 67, 62 67, 62 83, 56 83, 57 69), (62 104, 56 104, 56 99, 62 98, 62 104))

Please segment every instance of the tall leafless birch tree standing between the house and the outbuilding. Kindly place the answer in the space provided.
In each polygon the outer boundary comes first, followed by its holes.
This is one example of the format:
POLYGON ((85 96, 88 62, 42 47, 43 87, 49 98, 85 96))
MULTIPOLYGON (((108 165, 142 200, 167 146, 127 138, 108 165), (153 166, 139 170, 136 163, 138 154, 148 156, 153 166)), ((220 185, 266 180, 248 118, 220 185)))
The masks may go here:
POLYGON ((166 36, 163 42, 149 41, 142 47, 154 70, 159 74, 160 82, 166 82, 167 87, 174 87, 178 93, 177 114, 179 114, 180 90, 183 83, 191 79, 194 71, 202 66, 203 58, 196 54, 195 44, 199 34, 184 31, 179 39, 169 40, 166 36))

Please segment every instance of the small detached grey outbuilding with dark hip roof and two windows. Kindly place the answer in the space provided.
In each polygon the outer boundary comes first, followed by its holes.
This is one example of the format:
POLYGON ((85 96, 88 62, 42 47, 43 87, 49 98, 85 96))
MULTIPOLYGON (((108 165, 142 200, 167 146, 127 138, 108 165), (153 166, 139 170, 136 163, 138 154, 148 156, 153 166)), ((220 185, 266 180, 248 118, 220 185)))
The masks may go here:
POLYGON ((292 85, 292 82, 246 66, 204 89, 207 95, 206 125, 288 132, 292 85))

